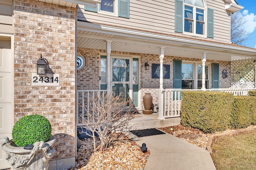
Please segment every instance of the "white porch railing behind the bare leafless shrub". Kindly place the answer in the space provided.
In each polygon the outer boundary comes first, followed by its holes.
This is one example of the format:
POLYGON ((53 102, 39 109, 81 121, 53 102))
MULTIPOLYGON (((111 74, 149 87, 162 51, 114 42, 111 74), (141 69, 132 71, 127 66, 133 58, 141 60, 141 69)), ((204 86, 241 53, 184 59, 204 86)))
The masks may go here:
POLYGON ((101 96, 106 94, 106 90, 77 90, 76 100, 78 101, 78 106, 76 106, 76 110, 78 112, 78 116, 76 116, 76 124, 84 125, 85 121, 88 121, 88 117, 86 116, 86 108, 89 106, 89 100, 96 96, 101 96))

